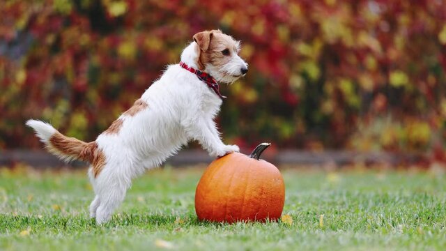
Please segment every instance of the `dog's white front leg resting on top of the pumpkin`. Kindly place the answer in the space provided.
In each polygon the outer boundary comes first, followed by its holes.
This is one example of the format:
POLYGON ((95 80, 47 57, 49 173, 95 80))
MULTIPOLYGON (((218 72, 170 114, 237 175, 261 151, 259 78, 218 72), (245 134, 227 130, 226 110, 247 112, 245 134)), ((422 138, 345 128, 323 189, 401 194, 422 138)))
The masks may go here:
POLYGON ((190 137, 196 139, 203 149, 213 157, 221 157, 227 153, 238 152, 236 145, 225 145, 220 139, 215 122, 211 118, 199 117, 187 126, 190 137))

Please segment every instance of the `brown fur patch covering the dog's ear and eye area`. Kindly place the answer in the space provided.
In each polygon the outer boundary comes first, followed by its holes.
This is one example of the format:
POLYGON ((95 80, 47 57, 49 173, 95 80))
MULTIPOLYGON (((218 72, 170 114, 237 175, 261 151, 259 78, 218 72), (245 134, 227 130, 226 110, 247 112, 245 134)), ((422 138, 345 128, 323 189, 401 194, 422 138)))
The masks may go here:
POLYGON ((199 57, 197 65, 204 70, 207 63, 221 67, 231 60, 230 56, 222 54, 222 50, 228 49, 230 53, 238 52, 238 44, 231 36, 222 31, 202 31, 194 35, 194 41, 199 45, 199 57))

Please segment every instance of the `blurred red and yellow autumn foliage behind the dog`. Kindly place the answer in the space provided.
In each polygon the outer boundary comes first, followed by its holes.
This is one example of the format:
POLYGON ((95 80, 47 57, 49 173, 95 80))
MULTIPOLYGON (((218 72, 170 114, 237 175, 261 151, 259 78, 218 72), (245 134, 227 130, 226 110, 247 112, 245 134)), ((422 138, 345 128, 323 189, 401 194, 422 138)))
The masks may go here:
POLYGON ((221 88, 226 142, 444 156, 444 1, 3 0, 0 16, 0 149, 40 146, 29 118, 95 139, 222 29, 250 66, 221 88))

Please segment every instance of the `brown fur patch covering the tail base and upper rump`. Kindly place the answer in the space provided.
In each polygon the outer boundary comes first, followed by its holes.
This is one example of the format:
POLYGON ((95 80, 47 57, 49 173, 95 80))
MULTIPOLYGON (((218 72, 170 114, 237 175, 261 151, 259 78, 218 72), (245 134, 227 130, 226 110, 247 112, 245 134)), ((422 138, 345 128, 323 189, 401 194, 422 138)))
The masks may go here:
POLYGON ((105 155, 98 148, 96 142, 86 143, 74 137, 66 137, 60 132, 56 132, 49 138, 47 148, 52 153, 68 160, 79 159, 90 162, 95 178, 105 166, 105 155))

